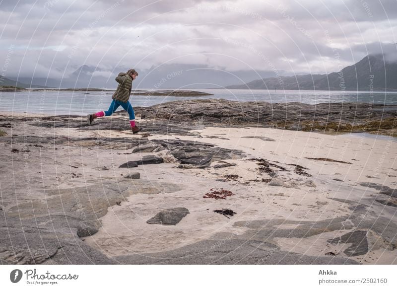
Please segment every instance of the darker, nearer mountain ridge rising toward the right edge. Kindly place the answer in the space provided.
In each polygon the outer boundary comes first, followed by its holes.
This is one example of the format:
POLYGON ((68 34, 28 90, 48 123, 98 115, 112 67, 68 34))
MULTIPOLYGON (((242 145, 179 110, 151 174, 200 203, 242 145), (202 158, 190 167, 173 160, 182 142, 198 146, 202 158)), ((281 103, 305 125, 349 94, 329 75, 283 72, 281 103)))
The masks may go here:
POLYGON ((352 66, 329 74, 267 77, 229 89, 397 90, 397 62, 383 54, 367 55, 352 66))

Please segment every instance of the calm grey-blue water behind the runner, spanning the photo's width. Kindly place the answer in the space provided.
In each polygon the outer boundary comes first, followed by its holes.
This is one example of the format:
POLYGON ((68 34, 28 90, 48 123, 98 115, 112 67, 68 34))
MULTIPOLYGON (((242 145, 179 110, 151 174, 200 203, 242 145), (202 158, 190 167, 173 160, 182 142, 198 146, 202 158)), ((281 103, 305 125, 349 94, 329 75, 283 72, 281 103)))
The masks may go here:
MULTIPOLYGON (((397 104, 397 92, 356 92, 356 91, 312 91, 312 90, 245 90, 245 89, 197 89, 212 93, 206 97, 141 96, 132 95, 132 106, 151 106, 174 100, 223 98, 235 101, 303 102, 373 102, 397 104)), ((42 113, 49 115, 86 115, 107 110, 112 101, 112 92, 71 92, 71 91, 23 91, 2 92, 0 111, 42 113)), ((118 110, 121 110, 119 108, 118 110)))

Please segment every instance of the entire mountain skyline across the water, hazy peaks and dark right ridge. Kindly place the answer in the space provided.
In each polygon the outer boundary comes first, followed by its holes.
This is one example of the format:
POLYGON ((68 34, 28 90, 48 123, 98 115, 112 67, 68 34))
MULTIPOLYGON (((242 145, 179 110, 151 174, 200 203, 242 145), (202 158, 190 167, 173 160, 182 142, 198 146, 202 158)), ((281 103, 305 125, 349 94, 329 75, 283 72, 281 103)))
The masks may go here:
MULTIPOLYGON (((63 78, 18 77, 4 78, 1 85, 23 88, 83 88, 115 89, 115 77, 129 68, 106 70, 88 65, 80 66, 63 78), (31 83, 31 84, 30 84, 31 83)), ((298 74, 286 72, 234 71, 202 65, 165 64, 139 70, 133 87, 136 88, 228 88, 228 89, 301 89, 301 90, 397 90, 397 61, 383 54, 370 54, 352 66, 329 74, 298 74), (259 79, 258 79, 259 78, 259 79), (256 80, 253 80, 256 79, 256 80), (240 84, 236 84, 240 83, 240 84)))

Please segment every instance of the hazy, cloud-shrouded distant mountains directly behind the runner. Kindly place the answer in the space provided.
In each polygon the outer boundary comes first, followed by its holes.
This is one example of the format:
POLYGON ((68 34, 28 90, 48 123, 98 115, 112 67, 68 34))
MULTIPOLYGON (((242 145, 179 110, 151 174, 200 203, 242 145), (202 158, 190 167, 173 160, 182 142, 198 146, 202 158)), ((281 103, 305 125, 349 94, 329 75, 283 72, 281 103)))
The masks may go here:
MULTIPOLYGON (((106 70, 100 67, 83 65, 63 78, 18 77, 14 81, 19 87, 49 86, 56 88, 97 87, 116 89, 115 77, 119 72, 127 72, 130 67, 117 67, 106 70), (34 83, 32 86, 26 83, 34 83)), ((214 69, 206 65, 166 64, 139 70, 134 80, 134 88, 224 88, 226 85, 251 81, 258 77, 275 76, 269 71, 235 71, 214 69)), ((285 72, 284 72, 285 73, 285 72)), ((5 85, 5 84, 3 84, 5 85)))

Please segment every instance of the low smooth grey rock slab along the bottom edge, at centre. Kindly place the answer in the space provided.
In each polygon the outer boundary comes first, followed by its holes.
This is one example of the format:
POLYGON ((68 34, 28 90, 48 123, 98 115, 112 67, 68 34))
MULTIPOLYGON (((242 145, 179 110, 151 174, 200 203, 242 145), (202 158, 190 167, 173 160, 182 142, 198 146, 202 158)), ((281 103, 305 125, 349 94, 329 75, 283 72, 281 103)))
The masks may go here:
POLYGON ((119 256, 122 264, 359 264, 341 257, 306 256, 280 251, 270 243, 226 238, 202 240, 179 249, 119 256))

